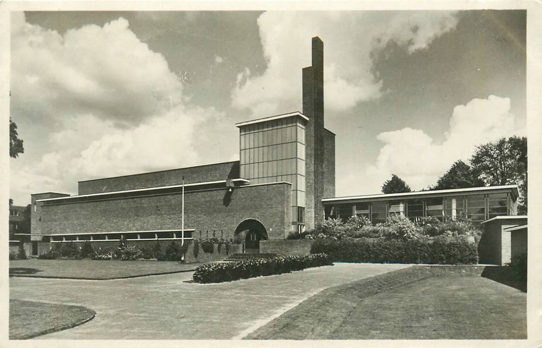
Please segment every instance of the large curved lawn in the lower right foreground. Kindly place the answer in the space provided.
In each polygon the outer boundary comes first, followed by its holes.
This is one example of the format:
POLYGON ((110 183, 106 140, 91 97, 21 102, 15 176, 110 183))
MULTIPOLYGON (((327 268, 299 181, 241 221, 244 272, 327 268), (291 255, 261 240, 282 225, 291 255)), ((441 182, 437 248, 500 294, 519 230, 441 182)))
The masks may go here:
POLYGON ((527 338, 525 293, 474 273, 413 269, 326 289, 246 338, 527 338))

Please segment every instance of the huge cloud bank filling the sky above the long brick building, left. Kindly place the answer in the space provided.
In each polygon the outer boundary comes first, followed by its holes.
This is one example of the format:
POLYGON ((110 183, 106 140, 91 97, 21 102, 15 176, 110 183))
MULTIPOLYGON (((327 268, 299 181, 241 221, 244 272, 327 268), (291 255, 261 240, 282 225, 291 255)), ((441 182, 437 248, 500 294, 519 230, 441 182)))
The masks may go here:
POLYGON ((11 117, 46 125, 33 134, 41 139, 25 138, 36 160, 11 162, 16 202, 74 194, 83 179, 196 164, 197 125, 216 112, 190 104, 124 18, 61 35, 12 12, 11 42, 11 117))

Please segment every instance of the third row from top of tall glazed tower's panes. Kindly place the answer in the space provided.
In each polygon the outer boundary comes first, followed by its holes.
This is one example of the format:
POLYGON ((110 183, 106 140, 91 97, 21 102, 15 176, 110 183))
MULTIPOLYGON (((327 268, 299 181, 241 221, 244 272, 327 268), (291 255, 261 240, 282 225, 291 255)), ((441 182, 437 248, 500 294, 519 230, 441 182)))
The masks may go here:
POLYGON ((299 158, 281 159, 240 165, 241 177, 245 179, 265 178, 289 174, 305 175, 305 161, 299 158))

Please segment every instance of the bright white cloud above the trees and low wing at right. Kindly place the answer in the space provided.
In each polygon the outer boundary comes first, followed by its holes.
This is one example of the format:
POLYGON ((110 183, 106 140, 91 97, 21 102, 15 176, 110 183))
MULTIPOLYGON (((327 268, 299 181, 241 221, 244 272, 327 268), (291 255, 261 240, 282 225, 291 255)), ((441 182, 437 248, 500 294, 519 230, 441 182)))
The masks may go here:
MULTIPOLYGON (((384 146, 376 163, 366 167, 364 183, 378 192, 383 181, 393 173, 412 189, 427 188, 456 160, 468 160, 475 146, 521 133, 518 120, 510 113, 509 98, 490 95, 487 99, 473 99, 466 105, 454 107, 442 143, 412 128, 378 134, 377 139, 384 146)), ((350 177, 345 182, 354 179, 350 177)))

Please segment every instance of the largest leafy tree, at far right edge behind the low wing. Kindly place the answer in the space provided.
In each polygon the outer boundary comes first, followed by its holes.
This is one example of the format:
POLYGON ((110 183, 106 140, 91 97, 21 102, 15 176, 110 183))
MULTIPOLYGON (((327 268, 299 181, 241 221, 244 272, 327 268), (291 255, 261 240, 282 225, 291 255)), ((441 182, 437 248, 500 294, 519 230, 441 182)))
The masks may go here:
POLYGON ((502 138, 476 147, 470 165, 474 175, 488 186, 519 186, 518 213, 527 213, 527 138, 502 138))

